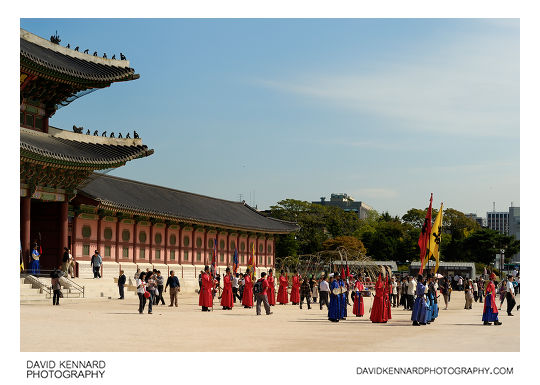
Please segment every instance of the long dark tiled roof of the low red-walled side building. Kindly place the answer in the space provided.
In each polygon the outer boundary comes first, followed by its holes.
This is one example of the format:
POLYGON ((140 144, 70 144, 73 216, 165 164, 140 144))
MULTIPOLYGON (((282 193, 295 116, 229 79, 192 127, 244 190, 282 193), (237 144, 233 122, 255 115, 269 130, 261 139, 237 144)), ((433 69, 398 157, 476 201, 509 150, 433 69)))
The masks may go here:
POLYGON ((79 193, 104 208, 245 231, 279 234, 298 229, 295 223, 266 217, 242 202, 96 173, 83 185, 79 193))

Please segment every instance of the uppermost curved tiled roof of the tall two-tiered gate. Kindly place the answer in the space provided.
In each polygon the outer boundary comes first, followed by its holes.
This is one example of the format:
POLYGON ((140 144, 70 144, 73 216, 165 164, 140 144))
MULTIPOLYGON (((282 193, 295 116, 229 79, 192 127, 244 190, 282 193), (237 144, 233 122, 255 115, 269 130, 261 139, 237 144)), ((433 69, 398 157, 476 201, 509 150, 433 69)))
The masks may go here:
MULTIPOLYGON (((39 42, 44 39, 34 40, 39 42)), ((135 70, 129 66, 111 65, 119 62, 117 60, 101 59, 76 51, 69 52, 72 50, 64 47, 53 49, 54 46, 44 46, 52 44, 46 40, 44 40, 43 45, 40 45, 21 37, 20 42, 21 65, 39 66, 60 77, 98 83, 132 80, 139 77, 138 74, 135 74, 135 70)))

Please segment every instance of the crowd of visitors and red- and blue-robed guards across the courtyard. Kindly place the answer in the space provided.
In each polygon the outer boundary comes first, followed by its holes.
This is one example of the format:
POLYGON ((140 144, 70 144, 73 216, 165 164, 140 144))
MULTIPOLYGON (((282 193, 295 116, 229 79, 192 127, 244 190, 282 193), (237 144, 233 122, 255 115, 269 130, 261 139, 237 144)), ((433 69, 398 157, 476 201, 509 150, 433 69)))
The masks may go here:
MULTIPOLYGON (((37 250, 37 249, 35 249, 37 250)), ((91 265, 94 277, 100 278, 99 267, 101 257, 96 252, 92 256, 91 265)), ((73 277, 73 257, 68 248, 64 249, 62 265, 51 275, 51 285, 54 292, 53 305, 59 304, 61 296, 60 277, 73 277)), ((141 272, 137 269, 134 275, 139 297, 139 313, 143 313, 148 305, 148 313, 152 314, 152 307, 166 305, 163 293, 169 289, 169 306, 178 306, 180 281, 174 271, 165 277, 159 270, 146 269, 141 272)), ((472 309, 473 302, 484 303, 482 321, 484 325, 501 325, 498 320, 498 310, 506 300, 507 314, 513 316, 512 310, 516 306, 516 294, 519 294, 519 272, 512 271, 506 279, 498 282, 495 274, 482 274, 476 279, 469 279, 459 274, 442 276, 428 273, 418 275, 393 275, 388 266, 381 267, 376 282, 364 272, 358 274, 344 274, 344 270, 333 274, 321 274, 315 278, 313 274, 302 277, 297 271, 289 280, 288 274, 283 270, 279 277, 275 277, 273 270, 268 274, 262 272, 259 279, 254 281, 254 275, 247 269, 244 273, 232 273, 226 268, 223 278, 219 274, 212 274, 209 266, 199 275, 199 306, 202 311, 213 310, 215 297, 218 296, 223 310, 231 310, 237 300, 241 306, 251 309, 255 305, 256 314, 262 314, 261 305, 267 315, 272 314, 271 307, 276 304, 298 305, 303 308, 304 302, 308 310, 319 304, 319 309, 326 306, 328 320, 339 322, 347 317, 347 307, 352 306, 355 317, 365 314, 364 298, 372 297, 370 320, 374 323, 385 323, 392 318, 391 308, 402 306, 404 310, 411 311, 412 325, 428 325, 435 322, 439 315, 439 297, 444 300, 444 308, 448 309, 451 294, 456 291, 464 293, 464 309, 472 309), (289 282, 291 282, 289 292, 289 282), (276 290, 277 286, 277 290, 276 290), (499 298, 499 306, 496 304, 499 298), (352 301, 352 303, 351 303, 352 301)), ((118 277, 119 299, 124 299, 124 286, 126 277, 124 271, 118 277)), ((519 310, 517 305, 516 310, 519 310)))

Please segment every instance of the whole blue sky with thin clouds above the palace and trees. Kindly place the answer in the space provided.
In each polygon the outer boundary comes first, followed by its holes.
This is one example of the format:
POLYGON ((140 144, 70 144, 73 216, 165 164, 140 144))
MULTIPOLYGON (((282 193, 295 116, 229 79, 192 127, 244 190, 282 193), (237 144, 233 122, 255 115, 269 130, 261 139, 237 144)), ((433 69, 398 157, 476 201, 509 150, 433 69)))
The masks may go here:
POLYGON ((519 205, 519 21, 23 19, 141 78, 51 124, 137 130, 155 149, 112 172, 238 200, 346 192, 379 212, 519 205))

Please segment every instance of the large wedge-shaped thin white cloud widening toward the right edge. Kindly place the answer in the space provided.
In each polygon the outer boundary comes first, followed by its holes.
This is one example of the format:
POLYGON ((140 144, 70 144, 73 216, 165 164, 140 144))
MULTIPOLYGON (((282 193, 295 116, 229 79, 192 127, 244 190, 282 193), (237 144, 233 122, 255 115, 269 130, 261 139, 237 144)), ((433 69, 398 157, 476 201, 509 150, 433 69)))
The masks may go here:
MULTIPOLYGON (((504 21, 503 21, 504 22, 504 21)), ((376 71, 304 71, 260 86, 413 131, 519 137, 519 43, 471 37, 376 71)))

